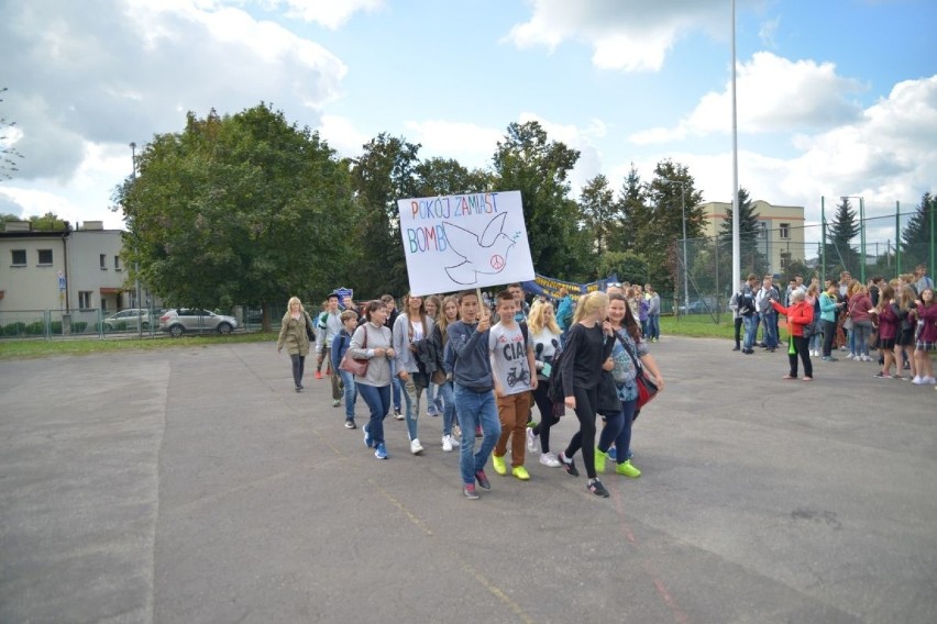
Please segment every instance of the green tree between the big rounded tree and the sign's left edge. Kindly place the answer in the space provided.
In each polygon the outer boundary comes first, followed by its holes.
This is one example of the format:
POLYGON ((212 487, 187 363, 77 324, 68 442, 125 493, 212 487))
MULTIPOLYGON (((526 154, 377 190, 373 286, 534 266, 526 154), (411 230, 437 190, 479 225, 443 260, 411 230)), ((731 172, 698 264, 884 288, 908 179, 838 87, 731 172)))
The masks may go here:
MULTIPOLYGON (((420 146, 382 133, 363 147, 364 153, 352 169, 363 211, 353 234, 366 252, 354 266, 344 267, 338 275, 348 276, 349 283, 363 296, 389 292, 400 297, 409 289, 409 280, 397 200, 421 194, 417 177, 420 146)), ((443 176, 438 170, 440 178, 458 172, 451 166, 440 169, 449 171, 443 176)))

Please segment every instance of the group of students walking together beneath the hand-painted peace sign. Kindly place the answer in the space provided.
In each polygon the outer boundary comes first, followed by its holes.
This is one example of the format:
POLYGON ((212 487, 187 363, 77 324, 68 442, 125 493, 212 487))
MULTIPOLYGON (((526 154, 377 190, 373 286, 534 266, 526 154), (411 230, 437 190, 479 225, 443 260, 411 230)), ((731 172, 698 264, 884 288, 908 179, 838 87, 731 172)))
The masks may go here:
POLYGON ((659 313, 660 299, 653 290, 649 297, 636 290, 628 294, 621 285, 611 285, 607 292, 582 296, 573 305, 561 292, 554 309, 540 298, 528 305, 520 286, 511 285, 490 307, 476 291, 445 298, 409 293, 399 312, 389 296, 356 307, 331 294, 315 320, 293 298, 277 349, 287 348, 295 389, 301 392, 305 358, 311 336, 318 334, 317 378, 326 363, 332 404, 344 402, 345 427, 357 428, 357 398, 367 405, 364 444, 377 459, 389 457, 384 421, 390 414, 407 421, 410 453, 423 453, 419 417, 426 397, 427 414, 443 419, 442 450, 460 449, 467 499, 492 489, 485 472, 489 456, 498 475, 529 480, 527 454, 536 453, 538 444, 541 465, 573 477, 578 476, 575 455, 582 450, 587 490, 608 497, 599 479, 608 461, 615 463, 618 475, 641 475, 630 452, 637 376, 643 370, 661 390, 664 385, 644 338, 644 331, 659 338, 649 310, 657 298, 659 313), (348 358, 366 361, 366 369, 352 375, 342 365, 348 358), (600 388, 604 375, 610 386, 600 388), (551 382, 559 392, 549 391, 551 382), (533 406, 539 422, 533 422, 533 406), (551 430, 567 410, 575 414, 578 431, 555 454, 551 430), (599 411, 603 428, 596 439, 599 411))

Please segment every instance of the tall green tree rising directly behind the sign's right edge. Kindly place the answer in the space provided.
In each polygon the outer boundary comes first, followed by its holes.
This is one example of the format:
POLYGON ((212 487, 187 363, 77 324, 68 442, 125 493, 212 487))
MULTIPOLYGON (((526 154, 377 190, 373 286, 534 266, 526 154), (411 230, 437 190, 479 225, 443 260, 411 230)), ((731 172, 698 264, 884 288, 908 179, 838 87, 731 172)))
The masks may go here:
POLYGON ((567 178, 578 158, 577 151, 549 141, 536 121, 508 125, 494 156, 496 187, 521 193, 534 269, 561 279, 581 277, 588 257, 578 207, 569 197, 567 178))

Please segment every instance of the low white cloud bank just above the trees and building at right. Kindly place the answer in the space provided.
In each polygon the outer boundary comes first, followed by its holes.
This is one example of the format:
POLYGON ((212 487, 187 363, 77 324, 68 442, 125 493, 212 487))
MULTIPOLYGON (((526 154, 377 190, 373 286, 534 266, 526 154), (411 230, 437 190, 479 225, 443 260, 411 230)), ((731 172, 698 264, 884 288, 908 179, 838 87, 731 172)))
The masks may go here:
MULTIPOLYGON (((808 224, 819 222, 820 197, 827 199, 828 215, 840 196, 861 196, 867 218, 893 214, 895 201, 907 212, 925 191, 935 190, 937 76, 900 82, 852 123, 800 135, 796 145, 801 154, 790 159, 752 149, 739 152, 739 185, 752 199, 802 205, 808 224)), ((647 155, 636 163, 644 181, 664 158, 690 168, 705 201, 731 200, 731 153, 647 155)), ((619 167, 617 179, 627 169, 619 167)), ((894 238, 893 230, 884 232, 894 238)), ((818 237, 818 230, 807 233, 808 239, 818 237)))

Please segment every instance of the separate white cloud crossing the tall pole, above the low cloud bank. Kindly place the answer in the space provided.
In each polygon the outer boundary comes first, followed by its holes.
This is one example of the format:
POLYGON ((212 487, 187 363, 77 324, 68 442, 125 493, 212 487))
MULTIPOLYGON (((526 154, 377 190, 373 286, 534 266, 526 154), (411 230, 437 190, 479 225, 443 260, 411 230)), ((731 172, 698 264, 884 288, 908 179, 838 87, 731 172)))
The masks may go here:
MULTIPOLYGON (((824 129, 848 122, 860 113, 849 96, 862 90, 853 79, 836 74, 831 63, 790 60, 770 52, 756 53, 738 67, 740 132, 769 133, 824 129)), ((693 112, 675 127, 654 127, 632 134, 637 145, 676 141, 731 130, 731 82, 723 91, 703 96, 693 112)))

